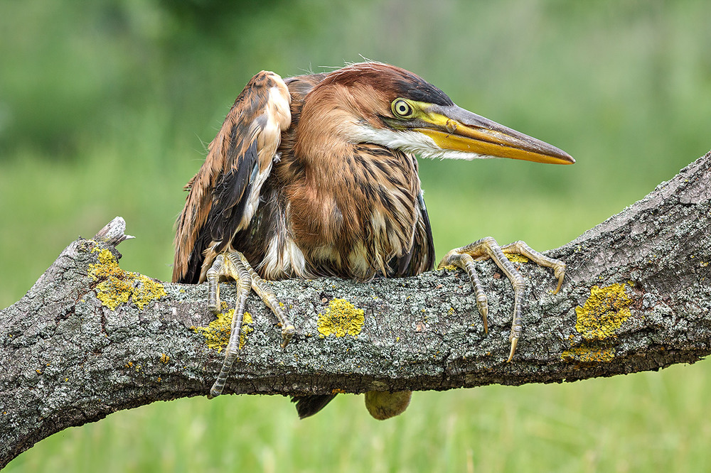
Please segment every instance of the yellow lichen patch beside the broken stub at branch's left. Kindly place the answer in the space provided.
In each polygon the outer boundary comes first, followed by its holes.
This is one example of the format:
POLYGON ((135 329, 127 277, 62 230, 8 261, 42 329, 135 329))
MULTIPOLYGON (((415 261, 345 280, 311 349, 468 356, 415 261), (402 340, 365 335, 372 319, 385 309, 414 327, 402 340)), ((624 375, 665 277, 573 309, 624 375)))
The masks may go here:
POLYGON ((100 250, 97 259, 98 263, 89 265, 89 276, 100 281, 96 285, 96 296, 110 310, 116 310, 129 300, 143 310, 151 300, 166 295, 164 286, 158 281, 120 268, 111 251, 100 250))

